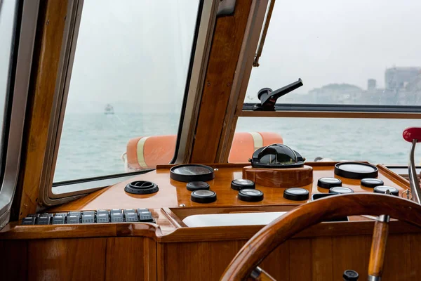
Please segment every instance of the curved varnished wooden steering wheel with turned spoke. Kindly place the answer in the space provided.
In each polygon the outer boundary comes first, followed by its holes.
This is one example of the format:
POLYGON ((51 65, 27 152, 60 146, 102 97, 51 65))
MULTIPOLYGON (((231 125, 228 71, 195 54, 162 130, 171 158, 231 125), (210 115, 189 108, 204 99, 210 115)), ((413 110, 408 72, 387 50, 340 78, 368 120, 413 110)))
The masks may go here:
POLYGON ((274 280, 258 264, 276 247, 310 226, 344 216, 379 216, 374 226, 368 280, 380 280, 389 216, 421 228, 421 205, 392 195, 352 193, 329 196, 293 209, 262 228, 241 248, 220 280, 274 280), (385 215, 387 214, 387 215, 385 215))

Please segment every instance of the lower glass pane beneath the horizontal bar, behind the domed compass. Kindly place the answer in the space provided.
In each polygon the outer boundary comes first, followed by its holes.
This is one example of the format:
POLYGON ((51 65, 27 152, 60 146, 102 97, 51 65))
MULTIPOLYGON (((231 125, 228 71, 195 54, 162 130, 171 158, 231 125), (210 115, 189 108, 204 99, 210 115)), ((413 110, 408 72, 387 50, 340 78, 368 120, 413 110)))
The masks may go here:
MULTIPOLYGON (((403 140, 402 132, 410 126, 420 126, 416 119, 327 119, 327 118, 279 118, 240 117, 236 135, 240 132, 263 133, 262 141, 276 140, 265 132, 276 133, 279 142, 298 151, 307 161, 316 157, 333 161, 368 161, 373 164, 408 164, 410 143, 403 140)), ((255 139, 255 145, 259 138, 255 139)), ((240 139, 232 145, 241 146, 240 139)), ((253 143, 251 143, 253 145, 253 143)), ((257 148, 256 148, 257 149, 257 148)), ((247 148, 242 148, 247 151, 247 148)), ((250 148, 253 155, 254 148, 250 148)), ((230 155, 236 157, 236 155, 230 155)), ((421 165, 421 147, 415 151, 415 163, 421 165)))

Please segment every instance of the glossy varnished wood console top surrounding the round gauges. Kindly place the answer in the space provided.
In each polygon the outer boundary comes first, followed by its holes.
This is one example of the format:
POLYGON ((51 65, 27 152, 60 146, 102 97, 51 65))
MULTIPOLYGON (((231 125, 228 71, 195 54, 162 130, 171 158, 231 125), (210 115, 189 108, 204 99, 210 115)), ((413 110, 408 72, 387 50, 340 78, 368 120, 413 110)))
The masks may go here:
MULTIPOLYGON (((352 188, 354 192, 373 192, 373 188, 361 187, 360 180, 342 178, 335 176, 335 162, 307 162, 313 167, 314 181, 302 188, 309 190, 310 194, 328 193, 327 189, 318 188, 317 180, 322 177, 340 178, 343 185, 352 188)), ((247 166, 248 164, 243 164, 247 166)), ((243 202, 238 200, 238 191, 232 190, 231 181, 236 178, 242 178, 242 164, 210 164, 210 166, 219 167, 215 171, 215 178, 208 181, 210 190, 216 192, 218 200, 210 204, 200 204, 192 202, 190 195, 192 192, 187 190, 186 183, 173 181, 169 176, 169 169, 156 169, 147 174, 135 176, 122 183, 112 185, 105 190, 100 190, 87 195, 84 198, 62 204, 59 207, 53 207, 51 211, 63 210, 95 210, 95 209, 129 209, 129 208, 161 208, 178 207, 184 204, 185 207, 222 207, 222 206, 261 206, 265 204, 302 204, 304 201, 291 201, 283 198, 285 188, 268 188, 257 184, 256 188, 265 193, 265 199, 260 202, 243 202), (152 195, 132 195, 124 191, 124 187, 131 181, 152 181, 159 186, 159 191, 152 195)), ((408 188, 408 181, 387 169, 379 167, 378 178, 385 182, 385 185, 392 185, 399 190, 401 194, 408 188)))

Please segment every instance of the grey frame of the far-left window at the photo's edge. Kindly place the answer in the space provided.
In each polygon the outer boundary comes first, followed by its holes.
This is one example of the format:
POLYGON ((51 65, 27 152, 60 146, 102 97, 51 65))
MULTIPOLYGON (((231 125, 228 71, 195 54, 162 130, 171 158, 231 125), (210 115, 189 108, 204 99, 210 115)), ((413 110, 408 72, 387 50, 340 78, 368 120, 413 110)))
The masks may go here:
POLYGON ((4 115, 4 146, 0 190, 0 229, 8 223, 18 185, 25 112, 31 76, 32 55, 39 0, 18 1, 16 11, 13 63, 9 70, 8 96, 4 115))

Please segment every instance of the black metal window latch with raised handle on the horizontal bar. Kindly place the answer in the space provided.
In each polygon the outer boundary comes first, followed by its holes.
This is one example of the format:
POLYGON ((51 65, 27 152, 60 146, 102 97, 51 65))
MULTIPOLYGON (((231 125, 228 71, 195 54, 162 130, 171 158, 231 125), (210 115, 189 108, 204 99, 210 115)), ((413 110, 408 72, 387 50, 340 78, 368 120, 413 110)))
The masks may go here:
POLYGON ((302 86, 302 80, 301 78, 298 78, 298 81, 286 85, 281 89, 277 89, 276 91, 272 91, 272 89, 270 88, 261 89, 258 93, 260 103, 256 103, 255 105, 253 105, 253 110, 274 111, 275 103, 278 98, 280 98, 281 96, 285 96, 290 91, 294 91, 295 89, 300 88, 300 86, 302 86))

